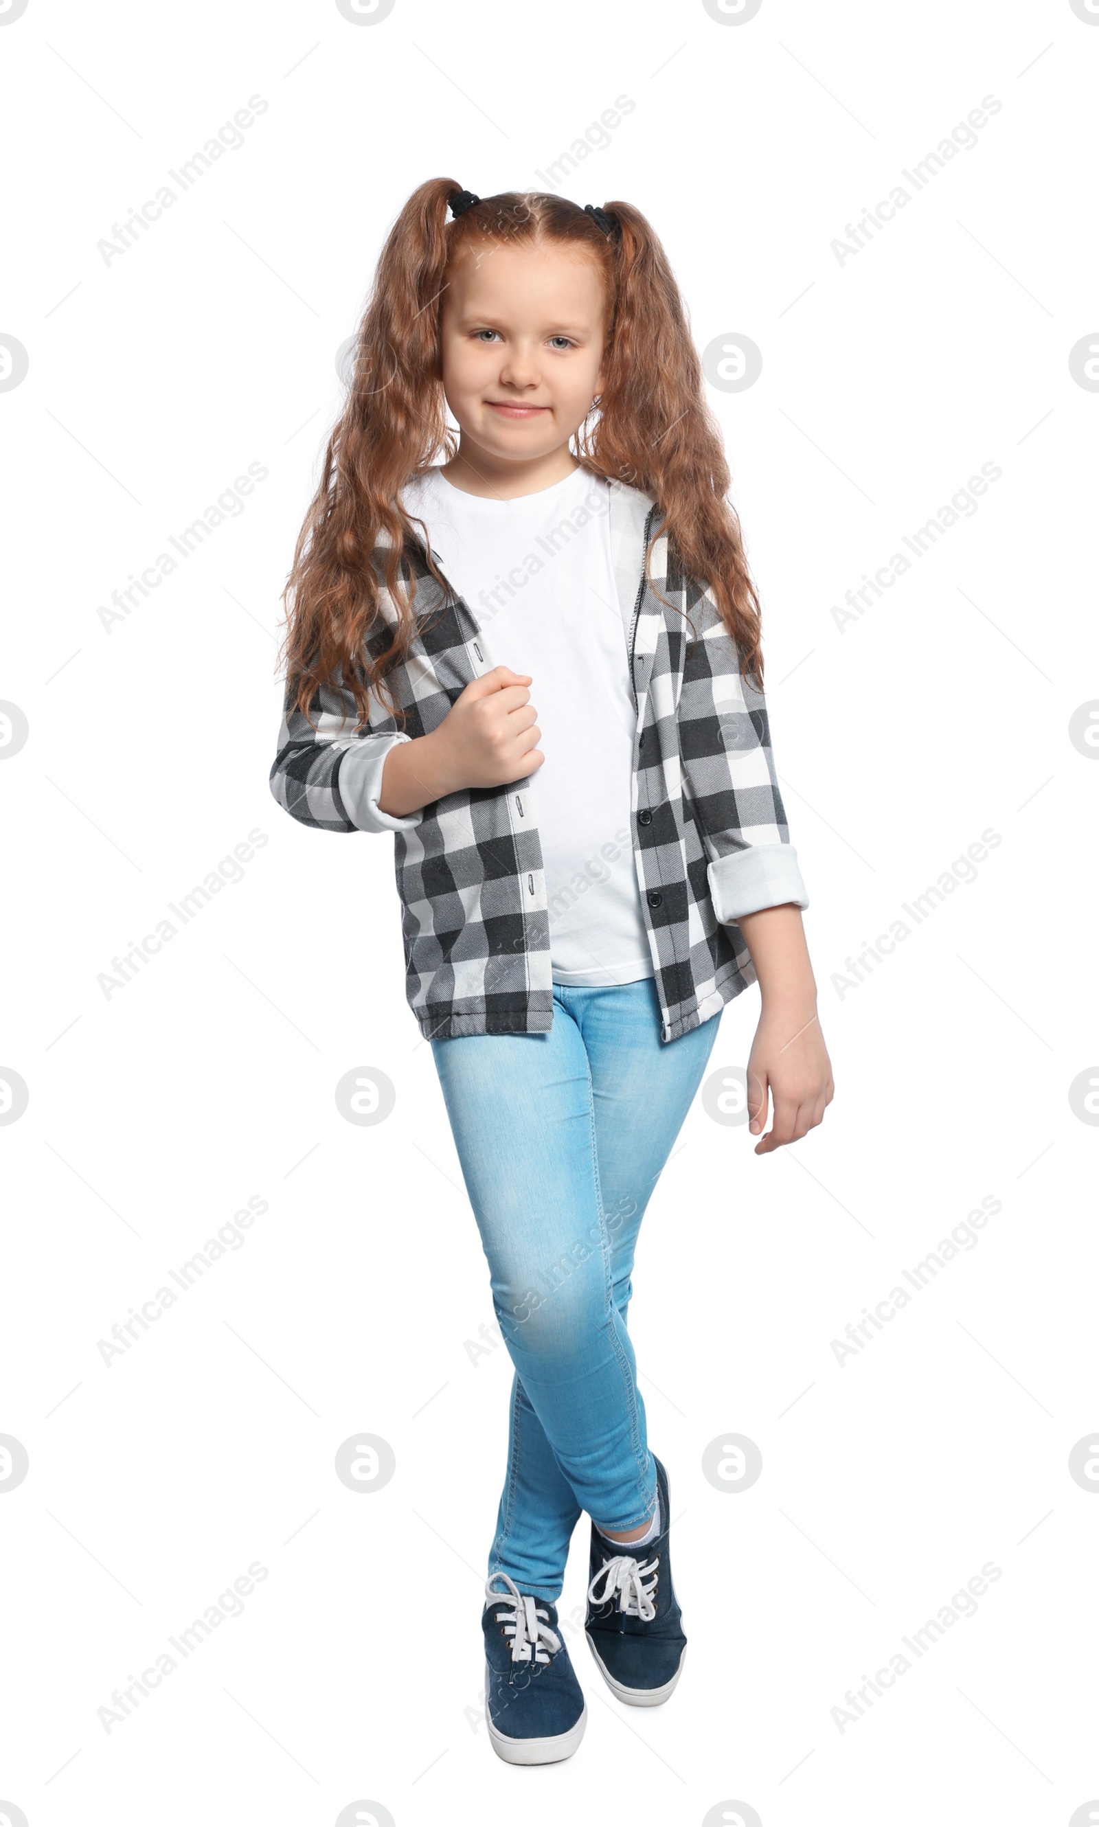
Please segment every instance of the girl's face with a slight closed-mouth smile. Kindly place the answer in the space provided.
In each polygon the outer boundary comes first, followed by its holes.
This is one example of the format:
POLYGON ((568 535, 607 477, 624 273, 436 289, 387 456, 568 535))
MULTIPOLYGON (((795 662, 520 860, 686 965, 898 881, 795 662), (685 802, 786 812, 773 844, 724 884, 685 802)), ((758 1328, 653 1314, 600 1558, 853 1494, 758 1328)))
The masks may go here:
POLYGON ((495 464, 568 446, 602 376, 604 298, 581 248, 466 248, 442 311, 442 384, 462 429, 495 464))

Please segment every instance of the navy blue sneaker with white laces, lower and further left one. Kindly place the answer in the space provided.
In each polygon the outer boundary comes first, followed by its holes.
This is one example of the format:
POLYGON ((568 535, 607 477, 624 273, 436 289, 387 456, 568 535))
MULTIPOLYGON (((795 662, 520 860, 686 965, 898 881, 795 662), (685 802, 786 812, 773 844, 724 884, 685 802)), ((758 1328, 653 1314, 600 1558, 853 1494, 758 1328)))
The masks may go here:
POLYGON ((557 1606, 524 1597, 509 1573, 486 1582, 484 1712, 493 1750, 506 1763, 571 1758, 588 1725, 588 1706, 562 1637, 557 1606), (504 1580, 508 1591, 493 1591, 504 1580))

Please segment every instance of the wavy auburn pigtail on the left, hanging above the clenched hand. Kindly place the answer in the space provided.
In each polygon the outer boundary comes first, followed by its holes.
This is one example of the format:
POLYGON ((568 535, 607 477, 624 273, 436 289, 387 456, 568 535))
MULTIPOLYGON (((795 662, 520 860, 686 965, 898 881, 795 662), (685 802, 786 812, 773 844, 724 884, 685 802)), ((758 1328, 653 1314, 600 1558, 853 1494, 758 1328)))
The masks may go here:
POLYGON ((440 453, 453 455, 438 298, 449 252, 447 199, 458 188, 451 177, 420 185, 385 239, 360 323, 351 395, 298 535, 283 590, 281 658, 294 702, 307 716, 319 685, 340 680, 360 723, 367 722, 371 692, 403 722, 383 689, 385 672, 405 658, 413 638, 414 579, 402 566, 409 523, 398 495, 414 471, 440 453), (385 552, 382 579, 371 563, 378 548, 385 552), (367 638, 382 618, 382 585, 396 612, 392 639, 382 652, 369 652, 367 638))

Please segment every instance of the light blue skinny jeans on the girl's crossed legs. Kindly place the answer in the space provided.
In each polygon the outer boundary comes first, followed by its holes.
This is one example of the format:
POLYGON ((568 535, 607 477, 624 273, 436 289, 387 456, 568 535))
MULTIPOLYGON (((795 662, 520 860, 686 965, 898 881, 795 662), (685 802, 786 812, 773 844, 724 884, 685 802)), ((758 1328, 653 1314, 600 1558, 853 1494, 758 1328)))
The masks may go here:
POLYGON ((555 983, 546 1034, 431 1041, 515 1365, 489 1573, 539 1599, 560 1595, 581 1511, 623 1533, 655 1507, 630 1275, 719 1021, 663 1043, 652 977, 555 983))

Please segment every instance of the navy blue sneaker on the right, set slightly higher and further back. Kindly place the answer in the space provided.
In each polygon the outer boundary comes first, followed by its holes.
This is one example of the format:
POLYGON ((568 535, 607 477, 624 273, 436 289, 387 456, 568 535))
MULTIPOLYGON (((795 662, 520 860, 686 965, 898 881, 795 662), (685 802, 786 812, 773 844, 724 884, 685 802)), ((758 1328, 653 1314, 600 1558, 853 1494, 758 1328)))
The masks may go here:
POLYGON ((665 1527, 641 1549, 641 1558, 630 1553, 630 1542, 623 1542, 615 1555, 613 1544, 591 1524, 584 1630, 602 1679, 628 1706, 666 1701, 686 1655, 683 1615, 672 1586, 668 1473, 659 1460, 655 1463, 665 1527))

